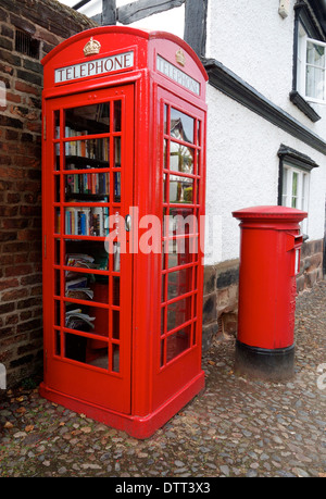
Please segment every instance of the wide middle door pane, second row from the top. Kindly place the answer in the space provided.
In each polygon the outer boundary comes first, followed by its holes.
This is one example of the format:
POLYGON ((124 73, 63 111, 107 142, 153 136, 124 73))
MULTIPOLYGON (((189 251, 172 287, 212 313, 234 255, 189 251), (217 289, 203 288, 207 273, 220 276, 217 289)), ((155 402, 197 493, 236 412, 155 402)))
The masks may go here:
POLYGON ((70 140, 64 144, 65 169, 103 169, 109 162, 109 138, 70 140), (73 158, 71 158, 73 157, 73 158))

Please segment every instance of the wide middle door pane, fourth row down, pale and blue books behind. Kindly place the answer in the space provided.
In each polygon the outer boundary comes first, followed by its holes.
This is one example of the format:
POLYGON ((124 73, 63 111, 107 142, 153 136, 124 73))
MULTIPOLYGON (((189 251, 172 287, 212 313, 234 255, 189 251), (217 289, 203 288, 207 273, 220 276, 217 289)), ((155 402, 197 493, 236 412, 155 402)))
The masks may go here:
POLYGON ((65 235, 105 237, 109 234, 108 207, 71 207, 64 210, 65 235))

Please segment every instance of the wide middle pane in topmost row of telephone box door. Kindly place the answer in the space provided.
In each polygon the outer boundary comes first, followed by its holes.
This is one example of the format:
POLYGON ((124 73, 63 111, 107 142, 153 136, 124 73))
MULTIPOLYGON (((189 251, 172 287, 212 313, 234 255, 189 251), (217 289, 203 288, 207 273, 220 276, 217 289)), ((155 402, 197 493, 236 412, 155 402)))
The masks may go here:
POLYGON ((65 137, 108 134, 110 132, 110 103, 84 105, 65 111, 65 137))

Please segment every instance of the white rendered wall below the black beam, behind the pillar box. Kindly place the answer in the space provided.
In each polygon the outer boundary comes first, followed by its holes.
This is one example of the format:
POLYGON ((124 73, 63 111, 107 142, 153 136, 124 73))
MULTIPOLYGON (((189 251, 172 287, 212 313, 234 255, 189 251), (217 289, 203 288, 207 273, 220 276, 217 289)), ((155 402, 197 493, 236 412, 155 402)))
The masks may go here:
POLYGON ((214 234, 205 234, 205 264, 239 257, 239 222, 231 212, 252 205, 277 204, 277 151, 281 144, 312 158, 308 235, 324 237, 325 157, 272 125, 212 86, 208 86, 206 215, 217 220, 214 234))

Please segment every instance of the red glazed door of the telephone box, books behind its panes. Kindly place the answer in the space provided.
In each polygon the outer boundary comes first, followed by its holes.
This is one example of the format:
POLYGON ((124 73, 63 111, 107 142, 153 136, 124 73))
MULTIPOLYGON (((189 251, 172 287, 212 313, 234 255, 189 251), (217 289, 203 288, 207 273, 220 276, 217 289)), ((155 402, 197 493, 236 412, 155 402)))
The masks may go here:
POLYGON ((45 382, 130 413, 134 87, 45 109, 45 382))

